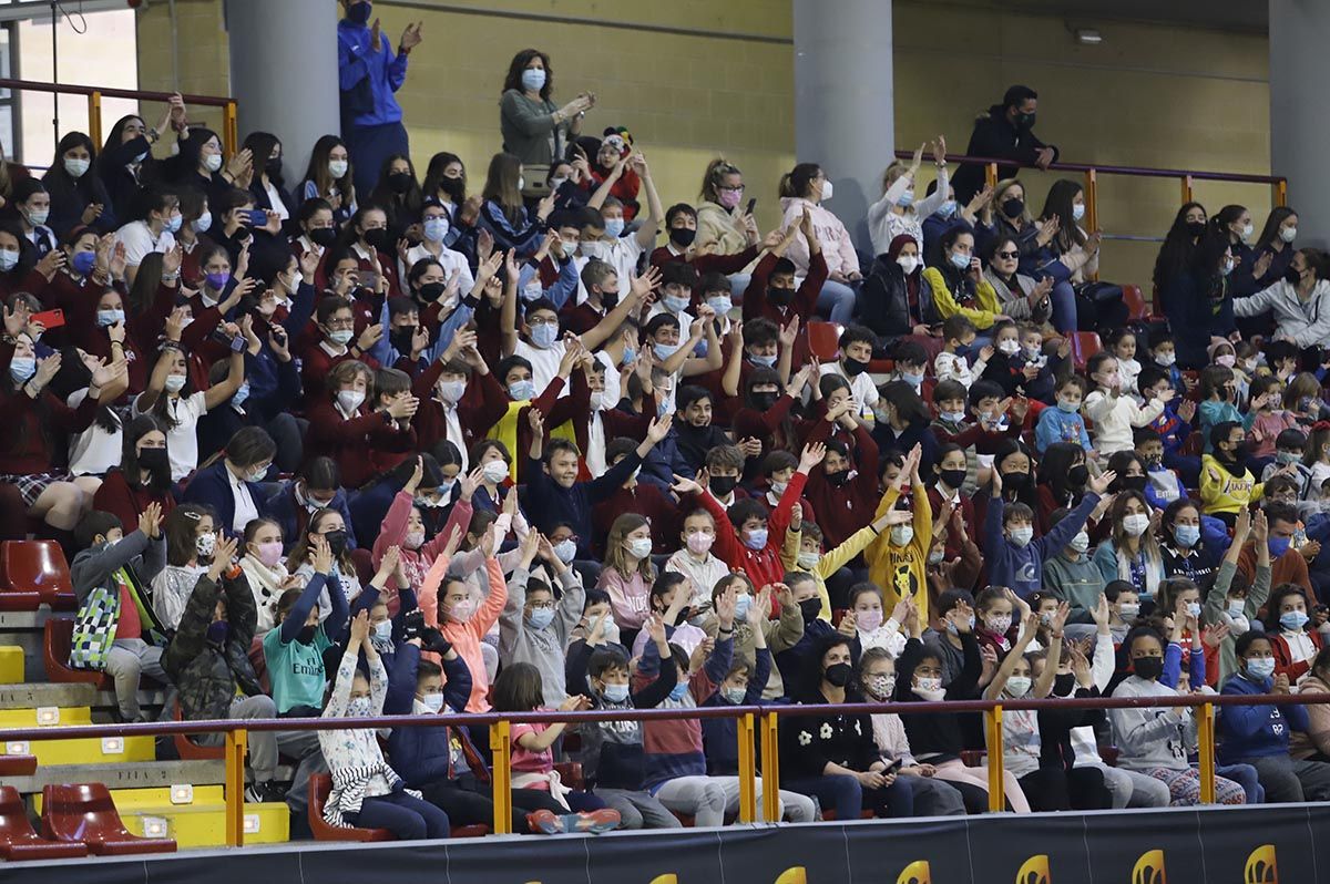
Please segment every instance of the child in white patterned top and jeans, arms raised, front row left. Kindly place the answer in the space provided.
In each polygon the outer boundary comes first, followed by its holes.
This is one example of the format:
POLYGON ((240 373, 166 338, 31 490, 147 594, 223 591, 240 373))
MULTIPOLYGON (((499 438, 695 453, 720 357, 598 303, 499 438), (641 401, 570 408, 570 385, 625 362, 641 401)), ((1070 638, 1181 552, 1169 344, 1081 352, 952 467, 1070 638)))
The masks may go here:
MULTIPOLYGON (((388 673, 368 641, 364 611, 351 623, 351 641, 332 681, 323 718, 368 718, 383 714, 388 673), (364 650, 370 675, 356 671, 364 650)), ((388 767, 374 728, 318 731, 319 746, 332 775, 323 819, 339 828, 386 828, 399 839, 448 837, 448 815, 406 788, 388 767)))

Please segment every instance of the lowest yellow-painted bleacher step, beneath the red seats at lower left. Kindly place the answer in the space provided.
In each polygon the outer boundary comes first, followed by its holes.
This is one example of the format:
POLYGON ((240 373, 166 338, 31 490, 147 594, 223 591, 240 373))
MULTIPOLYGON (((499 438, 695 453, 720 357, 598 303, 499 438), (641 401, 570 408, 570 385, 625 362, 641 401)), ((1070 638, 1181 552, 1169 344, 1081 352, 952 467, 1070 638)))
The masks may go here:
MULTIPOLYGON (((181 849, 223 847, 226 799, 221 786, 174 784, 153 788, 112 788, 120 819, 134 835, 173 837, 181 849)), ((33 799, 41 812, 41 796, 33 799)), ((283 844, 290 840, 290 811, 285 803, 245 804, 245 843, 283 844)))

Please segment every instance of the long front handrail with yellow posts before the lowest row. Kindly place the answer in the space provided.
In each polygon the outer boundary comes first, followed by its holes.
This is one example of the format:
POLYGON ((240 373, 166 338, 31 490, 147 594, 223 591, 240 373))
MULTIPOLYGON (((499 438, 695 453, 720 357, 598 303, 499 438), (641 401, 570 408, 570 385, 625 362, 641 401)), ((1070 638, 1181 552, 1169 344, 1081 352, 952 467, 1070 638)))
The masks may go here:
MULTIPOLYGON (((226 744, 226 843, 242 847, 245 843, 245 754, 250 731, 305 731, 305 730, 364 730, 380 727, 489 727, 489 747, 493 751, 493 831, 507 833, 512 820, 512 726, 535 723, 606 722, 606 720, 680 720, 734 718, 738 731, 739 763, 739 822, 757 819, 757 760, 754 735, 762 734, 762 810, 763 818, 774 820, 779 811, 779 755, 778 727, 781 718, 849 714, 871 715, 894 713, 898 715, 927 715, 934 713, 983 713, 990 747, 1001 747, 1003 711, 1037 711, 1041 709, 1174 709, 1198 707, 1201 803, 1214 803, 1214 709, 1224 706, 1305 706, 1330 702, 1330 694, 1188 694, 1177 697, 1093 697, 1001 701, 948 701, 946 703, 841 703, 801 706, 706 706, 697 709, 633 709, 605 711, 532 711, 480 713, 447 715, 376 715, 364 718, 269 718, 269 719, 214 719, 193 722, 142 722, 134 724, 74 724, 68 727, 11 727, 0 730, 0 740, 8 748, 13 743, 47 739, 78 739, 101 736, 166 736, 180 734, 223 732, 226 744)), ((988 752, 988 806, 1001 811, 1005 806, 1003 780, 1003 752, 988 752)))

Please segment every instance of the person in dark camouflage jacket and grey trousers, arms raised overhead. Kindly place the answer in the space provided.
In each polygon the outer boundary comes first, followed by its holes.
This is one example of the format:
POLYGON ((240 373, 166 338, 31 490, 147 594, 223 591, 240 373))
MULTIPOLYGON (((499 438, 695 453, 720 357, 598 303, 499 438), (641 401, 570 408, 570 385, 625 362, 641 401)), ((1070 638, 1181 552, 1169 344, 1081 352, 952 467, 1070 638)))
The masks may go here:
MULTIPOLYGON (((231 565, 235 546, 234 538, 218 542, 218 554, 194 585, 180 629, 162 654, 162 669, 180 691, 184 720, 277 718, 277 706, 249 661, 258 610, 249 581, 231 565)), ((217 744, 221 734, 198 742, 217 744)), ((251 731, 249 752, 254 782, 245 790, 245 800, 281 802, 282 790, 273 784, 277 734, 251 731)))

